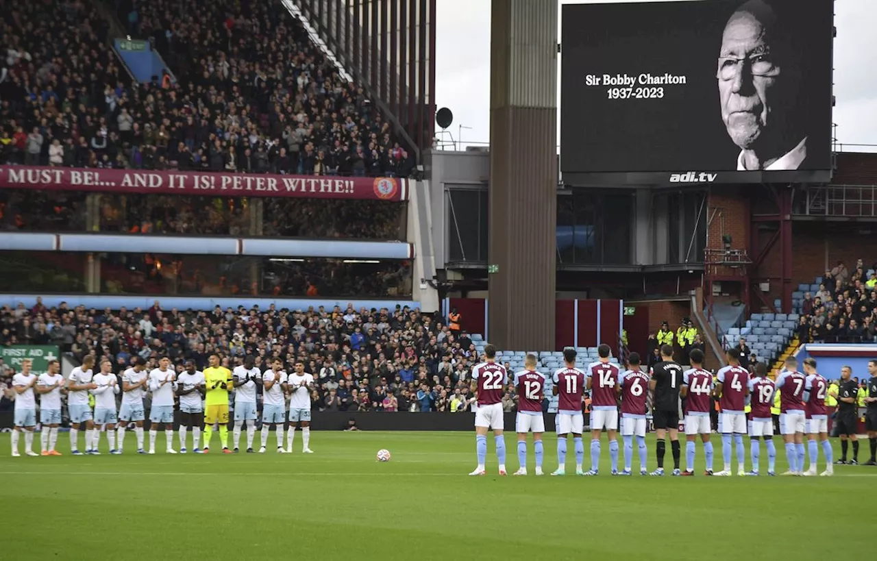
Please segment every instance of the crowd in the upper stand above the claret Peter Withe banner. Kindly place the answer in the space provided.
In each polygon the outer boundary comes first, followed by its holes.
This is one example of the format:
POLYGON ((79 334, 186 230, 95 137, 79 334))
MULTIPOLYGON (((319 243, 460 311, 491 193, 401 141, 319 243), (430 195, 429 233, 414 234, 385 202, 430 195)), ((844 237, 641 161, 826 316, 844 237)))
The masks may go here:
POLYGON ((280 3, 120 3, 176 81, 132 82, 80 0, 4 0, 0 164, 407 176, 414 160, 280 3))

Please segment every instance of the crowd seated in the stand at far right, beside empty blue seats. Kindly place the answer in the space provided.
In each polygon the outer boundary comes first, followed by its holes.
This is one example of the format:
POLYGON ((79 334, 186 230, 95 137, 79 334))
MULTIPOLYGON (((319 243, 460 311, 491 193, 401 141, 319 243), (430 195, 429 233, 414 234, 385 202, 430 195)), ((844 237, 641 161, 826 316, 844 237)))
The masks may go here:
POLYGON ((797 335, 802 343, 873 343, 877 340, 877 263, 859 259, 825 272, 819 290, 805 293, 797 335))

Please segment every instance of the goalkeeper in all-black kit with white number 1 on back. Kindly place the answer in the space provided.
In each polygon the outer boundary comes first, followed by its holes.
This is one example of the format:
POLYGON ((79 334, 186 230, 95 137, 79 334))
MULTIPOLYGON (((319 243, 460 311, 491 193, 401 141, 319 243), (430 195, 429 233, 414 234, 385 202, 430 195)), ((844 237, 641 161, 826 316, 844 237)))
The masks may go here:
POLYGON ((670 431, 670 446, 673 448, 673 474, 679 471, 679 390, 682 387, 682 367, 673 359, 673 347, 669 344, 660 346, 660 362, 652 366, 652 380, 649 390, 652 391, 652 421, 658 443, 655 451, 658 455, 658 469, 650 475, 664 475, 664 435, 670 431))

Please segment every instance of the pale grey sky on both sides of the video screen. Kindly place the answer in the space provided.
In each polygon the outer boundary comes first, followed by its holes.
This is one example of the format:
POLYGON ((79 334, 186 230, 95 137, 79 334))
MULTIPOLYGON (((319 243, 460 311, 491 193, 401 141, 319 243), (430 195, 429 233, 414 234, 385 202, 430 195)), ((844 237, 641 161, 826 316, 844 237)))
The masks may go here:
MULTIPOLYGON (((567 0, 558 4, 600 4, 616 0, 567 0)), ((673 0, 645 0, 673 1, 673 0)), ((436 103, 453 111, 448 129, 464 145, 490 138, 490 2, 441 0, 437 3, 436 103), (471 127, 460 130, 459 125, 471 127)), ((838 38, 834 43, 833 121, 845 145, 877 145, 877 1, 835 3, 838 38)), ((561 38, 562 40, 562 38, 561 38)), ((560 76, 559 76, 560 77, 560 76)), ((444 137, 450 140, 448 137, 444 137)), ((559 139, 560 141, 560 139, 559 139)), ((846 152, 877 152, 877 146, 845 146, 846 152)))

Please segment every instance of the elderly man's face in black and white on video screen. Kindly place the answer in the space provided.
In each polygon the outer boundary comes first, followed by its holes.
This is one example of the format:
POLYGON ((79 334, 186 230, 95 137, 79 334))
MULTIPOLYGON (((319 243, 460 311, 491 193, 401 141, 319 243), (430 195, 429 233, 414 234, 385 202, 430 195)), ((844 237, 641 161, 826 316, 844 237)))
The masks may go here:
POLYGON ((782 94, 781 49, 771 45, 773 12, 749 2, 725 25, 717 80, 722 121, 731 140, 750 149, 777 128, 781 111, 793 100, 782 94), (747 6, 749 6, 747 8, 747 6))

